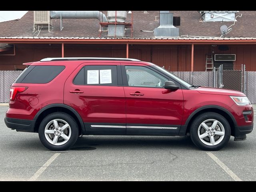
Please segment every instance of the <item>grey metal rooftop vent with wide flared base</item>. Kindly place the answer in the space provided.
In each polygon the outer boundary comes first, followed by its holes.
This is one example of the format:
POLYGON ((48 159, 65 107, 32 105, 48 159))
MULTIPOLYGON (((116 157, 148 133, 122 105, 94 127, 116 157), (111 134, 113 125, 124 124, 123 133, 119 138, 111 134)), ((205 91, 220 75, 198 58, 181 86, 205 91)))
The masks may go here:
POLYGON ((178 37, 179 28, 173 26, 173 13, 160 11, 160 25, 154 29, 155 37, 178 37))

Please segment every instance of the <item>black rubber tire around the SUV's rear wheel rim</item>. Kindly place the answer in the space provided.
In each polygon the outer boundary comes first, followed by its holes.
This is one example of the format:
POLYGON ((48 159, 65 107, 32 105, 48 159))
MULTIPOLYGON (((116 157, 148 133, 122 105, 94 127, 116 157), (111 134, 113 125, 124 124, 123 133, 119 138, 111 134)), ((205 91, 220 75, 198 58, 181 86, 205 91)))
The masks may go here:
POLYGON ((39 129, 38 129, 38 135, 39 135, 39 138, 40 138, 40 141, 42 142, 42 144, 46 148, 53 150, 53 151, 67 150, 68 148, 73 146, 78 138, 78 133, 79 133, 78 124, 76 123, 74 118, 72 118, 72 116, 70 116, 66 113, 63 113, 63 112, 55 112, 55 113, 52 113, 52 114, 49 114, 48 116, 46 116, 40 123, 39 129), (71 129, 71 133, 70 133, 71 135, 70 135, 68 142, 66 142, 65 144, 62 144, 60 146, 56 146, 56 145, 53 145, 50 142, 48 142, 48 140, 46 139, 46 136, 44 134, 46 125, 54 119, 61 119, 61 120, 66 121, 70 125, 70 129, 71 129))

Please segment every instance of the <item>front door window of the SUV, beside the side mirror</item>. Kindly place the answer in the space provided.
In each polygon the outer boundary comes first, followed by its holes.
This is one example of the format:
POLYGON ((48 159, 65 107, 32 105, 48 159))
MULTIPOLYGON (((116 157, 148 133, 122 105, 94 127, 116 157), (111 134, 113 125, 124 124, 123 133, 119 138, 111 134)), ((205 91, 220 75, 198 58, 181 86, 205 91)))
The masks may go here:
POLYGON ((163 88, 167 78, 143 66, 125 66, 128 86, 163 88))

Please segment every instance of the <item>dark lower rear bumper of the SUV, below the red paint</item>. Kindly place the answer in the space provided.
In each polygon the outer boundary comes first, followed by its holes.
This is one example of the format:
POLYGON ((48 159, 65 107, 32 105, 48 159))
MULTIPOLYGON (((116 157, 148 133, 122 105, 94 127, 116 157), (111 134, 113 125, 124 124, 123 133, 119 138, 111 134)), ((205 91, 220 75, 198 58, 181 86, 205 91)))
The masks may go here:
POLYGON ((15 118, 4 118, 4 122, 8 128, 16 129, 16 131, 20 132, 34 132, 34 124, 33 120, 26 119, 15 119, 15 118))

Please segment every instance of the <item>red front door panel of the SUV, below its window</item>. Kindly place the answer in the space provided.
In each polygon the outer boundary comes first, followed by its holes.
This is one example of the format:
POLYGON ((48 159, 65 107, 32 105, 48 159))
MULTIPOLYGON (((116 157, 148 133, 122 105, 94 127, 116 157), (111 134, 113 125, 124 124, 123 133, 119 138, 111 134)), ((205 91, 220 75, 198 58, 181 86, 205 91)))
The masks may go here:
POLYGON ((182 90, 124 87, 126 123, 180 125, 183 116, 182 90), (143 96, 130 95, 131 92, 143 96))

